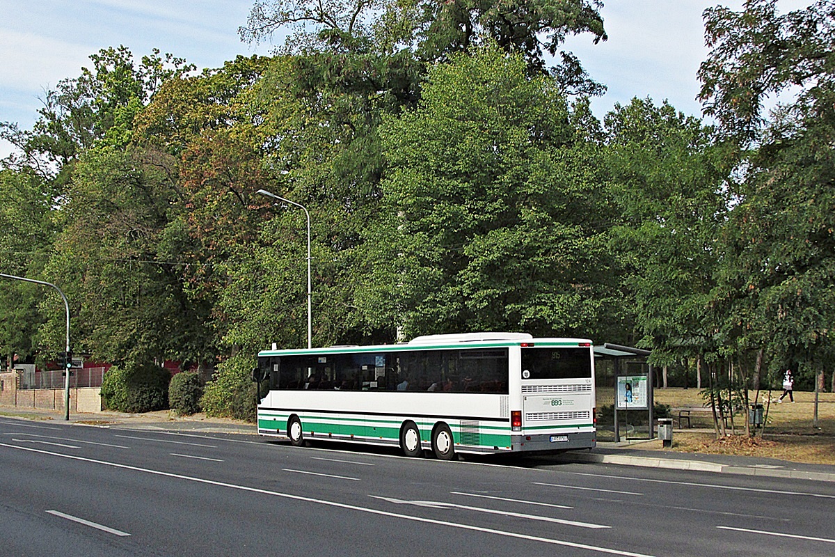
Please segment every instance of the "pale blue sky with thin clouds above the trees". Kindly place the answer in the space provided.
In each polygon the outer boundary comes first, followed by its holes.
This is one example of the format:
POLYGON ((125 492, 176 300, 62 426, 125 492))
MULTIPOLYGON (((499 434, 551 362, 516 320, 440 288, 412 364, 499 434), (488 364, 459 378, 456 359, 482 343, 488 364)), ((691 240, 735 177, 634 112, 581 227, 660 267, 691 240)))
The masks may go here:
MULTIPOLYGON (((219 68, 238 54, 269 54, 274 45, 240 41, 254 0, 0 0, 0 122, 30 129, 44 92, 76 78, 89 55, 124 45, 134 60, 159 48, 194 63, 219 68)), ((605 0, 600 10, 609 40, 590 34, 569 38, 591 77, 609 89, 594 99, 602 117, 633 97, 664 99, 701 116, 696 72, 706 58, 702 12, 742 0, 605 0)), ((781 11, 809 1, 780 0, 781 11)), ((11 145, 0 140, 0 157, 11 145)))

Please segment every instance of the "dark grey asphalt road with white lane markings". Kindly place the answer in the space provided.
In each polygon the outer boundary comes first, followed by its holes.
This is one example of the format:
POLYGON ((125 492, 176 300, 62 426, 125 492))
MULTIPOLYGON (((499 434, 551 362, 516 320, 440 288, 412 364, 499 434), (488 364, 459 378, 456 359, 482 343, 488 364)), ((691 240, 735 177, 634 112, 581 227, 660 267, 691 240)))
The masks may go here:
POLYGON ((832 555, 835 485, 0 418, 0 555, 832 555))

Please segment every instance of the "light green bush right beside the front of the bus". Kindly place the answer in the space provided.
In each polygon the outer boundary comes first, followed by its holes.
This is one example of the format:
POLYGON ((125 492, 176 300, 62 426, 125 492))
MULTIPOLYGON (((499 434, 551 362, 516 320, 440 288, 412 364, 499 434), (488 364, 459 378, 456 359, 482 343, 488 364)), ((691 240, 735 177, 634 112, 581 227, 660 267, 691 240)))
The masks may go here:
POLYGON ((200 406, 213 418, 235 418, 255 423, 256 384, 252 382, 253 358, 239 354, 220 362, 206 383, 200 406))

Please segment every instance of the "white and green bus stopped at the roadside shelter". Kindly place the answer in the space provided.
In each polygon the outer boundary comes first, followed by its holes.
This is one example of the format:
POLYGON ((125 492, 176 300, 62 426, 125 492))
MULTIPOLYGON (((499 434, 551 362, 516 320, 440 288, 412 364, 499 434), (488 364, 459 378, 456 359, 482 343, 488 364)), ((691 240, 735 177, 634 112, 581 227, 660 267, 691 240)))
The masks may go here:
POLYGON ((407 456, 595 447, 589 340, 524 333, 266 350, 258 433, 399 446, 407 456))

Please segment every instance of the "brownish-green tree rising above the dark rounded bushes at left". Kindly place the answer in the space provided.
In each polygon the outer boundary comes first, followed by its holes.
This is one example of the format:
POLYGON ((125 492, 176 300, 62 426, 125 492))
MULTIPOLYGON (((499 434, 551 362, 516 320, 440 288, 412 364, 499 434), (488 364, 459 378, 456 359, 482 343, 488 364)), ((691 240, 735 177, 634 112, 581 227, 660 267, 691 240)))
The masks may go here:
POLYGON ((184 262, 160 248, 173 200, 168 174, 142 149, 91 149, 78 161, 45 272, 74 306, 79 352, 139 364, 214 355, 205 309, 185 295, 184 262))

